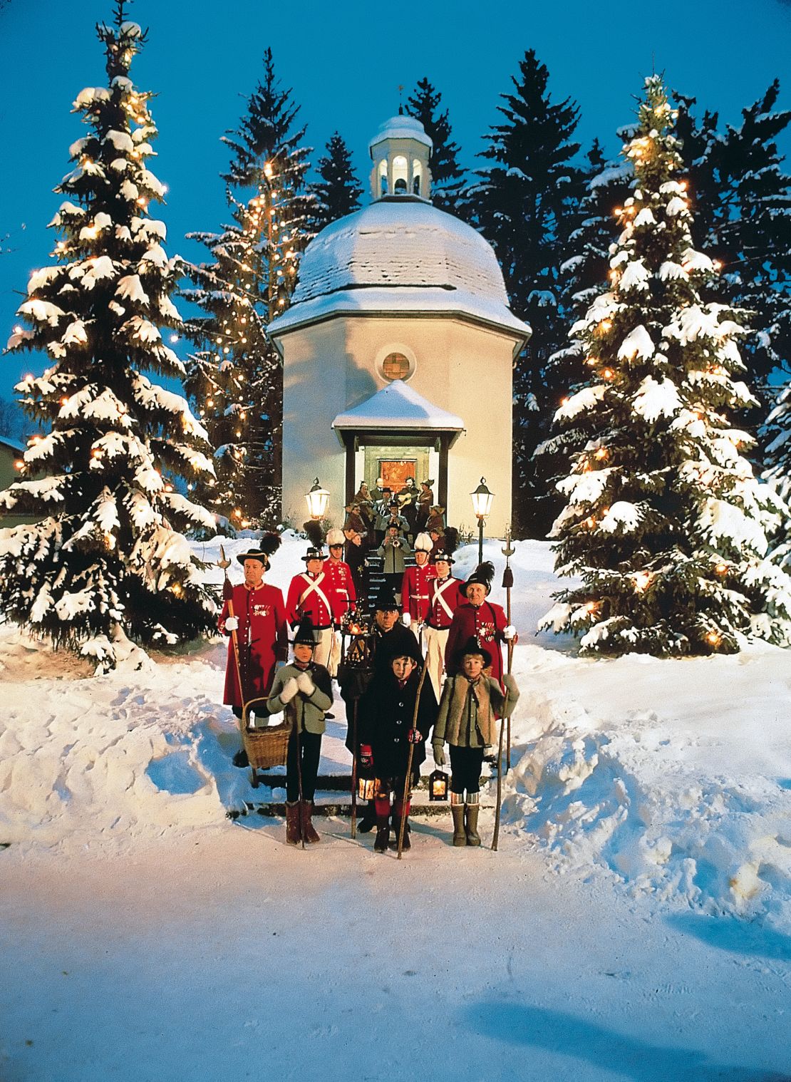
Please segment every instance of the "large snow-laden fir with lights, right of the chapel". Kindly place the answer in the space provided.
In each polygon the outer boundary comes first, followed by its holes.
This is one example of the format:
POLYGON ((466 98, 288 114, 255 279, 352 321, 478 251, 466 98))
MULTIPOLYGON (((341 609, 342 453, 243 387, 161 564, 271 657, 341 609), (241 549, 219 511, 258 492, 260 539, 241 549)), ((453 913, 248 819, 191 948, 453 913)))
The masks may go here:
POLYGON ((733 420, 754 403, 739 379, 746 332, 738 312, 701 296, 716 267, 693 247, 673 120, 651 76, 623 149, 635 176, 610 287, 572 329, 592 379, 556 415, 585 437, 553 527, 558 572, 582 581, 544 625, 581 634, 590 652, 791 641, 791 579, 765 558, 782 504, 753 477, 733 420))

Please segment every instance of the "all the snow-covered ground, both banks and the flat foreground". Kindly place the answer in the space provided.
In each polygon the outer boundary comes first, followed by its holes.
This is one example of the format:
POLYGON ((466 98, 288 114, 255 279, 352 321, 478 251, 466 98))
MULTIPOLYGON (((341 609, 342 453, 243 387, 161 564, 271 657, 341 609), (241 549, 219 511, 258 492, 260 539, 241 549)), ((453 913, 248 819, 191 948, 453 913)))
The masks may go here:
POLYGON ((789 652, 580 659, 532 634, 549 546, 512 564, 498 853, 449 815, 400 862, 334 819, 289 849, 225 817, 261 790, 223 643, 93 677, 2 629, 0 1079, 791 1079, 789 652))

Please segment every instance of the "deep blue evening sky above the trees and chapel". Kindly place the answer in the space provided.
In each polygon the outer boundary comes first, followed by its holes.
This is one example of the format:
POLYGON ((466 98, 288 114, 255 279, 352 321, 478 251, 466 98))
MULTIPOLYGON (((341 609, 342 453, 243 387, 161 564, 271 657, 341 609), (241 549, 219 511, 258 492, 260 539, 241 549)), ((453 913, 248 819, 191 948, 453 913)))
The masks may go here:
MULTIPOLYGON (((111 19, 110 0, 0 0, 0 145, 3 148, 0 237, 0 344, 16 322, 27 278, 49 262, 45 228, 58 202, 52 187, 69 169, 68 146, 82 133, 70 104, 83 87, 104 85, 94 23, 111 19), (22 224, 25 228, 22 228, 22 224)), ((690 0, 684 4, 612 4, 595 0, 522 3, 265 3, 258 0, 136 0, 129 17, 149 28, 132 67, 153 103, 160 136, 153 168, 169 187, 157 213, 168 251, 197 256, 192 229, 217 228, 224 216, 227 166, 220 136, 238 123, 243 97, 272 45, 285 85, 308 126, 314 158, 333 131, 352 148, 368 190, 367 143, 397 111, 398 85, 427 76, 450 109, 463 162, 474 164, 480 135, 498 120, 499 95, 526 49, 550 69, 555 101, 575 98, 578 135, 594 135, 615 154, 616 129, 631 120, 634 96, 652 69, 668 83, 738 124, 740 109, 779 77, 779 106, 791 108, 789 0, 690 0)), ((791 140, 783 143, 786 153, 791 140)), ((27 356, 0 360, 0 396, 24 371, 44 365, 27 356)))

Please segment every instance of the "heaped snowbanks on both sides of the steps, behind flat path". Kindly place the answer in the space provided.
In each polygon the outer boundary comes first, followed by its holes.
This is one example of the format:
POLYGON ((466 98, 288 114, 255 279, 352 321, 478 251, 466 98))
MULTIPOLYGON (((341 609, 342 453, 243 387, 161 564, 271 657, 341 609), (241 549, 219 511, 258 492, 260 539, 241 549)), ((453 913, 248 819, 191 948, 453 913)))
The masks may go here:
MULTIPOLYGON (((220 543, 195 553, 214 564, 220 543)), ((254 539, 222 543, 239 581, 234 557, 254 539)), ((285 535, 267 581, 285 589, 305 546, 285 535)), ((657 906, 764 913, 791 928, 788 651, 581 659, 574 639, 531 631, 559 585, 550 546, 515 547, 522 699, 501 847, 538 846, 555 871, 604 876, 657 906)), ((500 550, 487 542, 485 557, 497 567, 492 599, 504 604, 500 550)), ((457 557, 464 577, 477 547, 457 557)), ((0 842, 124 848, 221 822, 255 799, 230 764, 225 644, 190 649, 92 677, 70 655, 0 631, 0 842)), ((326 741, 340 768, 342 735, 326 741)))

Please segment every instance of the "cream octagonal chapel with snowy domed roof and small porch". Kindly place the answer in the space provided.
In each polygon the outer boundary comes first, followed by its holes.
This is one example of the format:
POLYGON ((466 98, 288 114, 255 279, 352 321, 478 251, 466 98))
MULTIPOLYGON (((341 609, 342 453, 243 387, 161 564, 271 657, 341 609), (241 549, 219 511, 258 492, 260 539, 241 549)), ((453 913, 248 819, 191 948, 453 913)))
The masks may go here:
POLYGON ((431 202, 432 141, 393 117, 369 144, 372 202, 307 246, 293 301, 269 325, 284 359, 284 515, 315 477, 338 522, 359 483, 434 481, 448 522, 495 493, 487 532, 511 518, 513 359, 530 328, 509 309, 495 252, 431 202))

